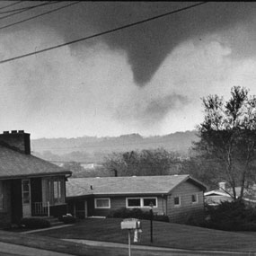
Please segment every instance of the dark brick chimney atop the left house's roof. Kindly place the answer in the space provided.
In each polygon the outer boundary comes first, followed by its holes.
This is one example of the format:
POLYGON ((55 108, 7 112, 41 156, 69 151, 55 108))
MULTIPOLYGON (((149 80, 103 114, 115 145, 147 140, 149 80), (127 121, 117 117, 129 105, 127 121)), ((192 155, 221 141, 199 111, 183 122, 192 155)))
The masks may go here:
POLYGON ((31 154, 31 134, 23 130, 4 131, 0 134, 0 141, 14 147, 24 154, 31 154))

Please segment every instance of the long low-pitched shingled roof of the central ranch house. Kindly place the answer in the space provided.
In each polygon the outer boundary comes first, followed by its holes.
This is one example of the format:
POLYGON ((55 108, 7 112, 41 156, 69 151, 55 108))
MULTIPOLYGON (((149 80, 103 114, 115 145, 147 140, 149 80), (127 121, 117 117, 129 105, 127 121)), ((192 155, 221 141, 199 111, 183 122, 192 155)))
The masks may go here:
POLYGON ((66 197, 88 195, 167 194, 184 181, 206 186, 189 175, 74 178, 66 182, 66 197))

